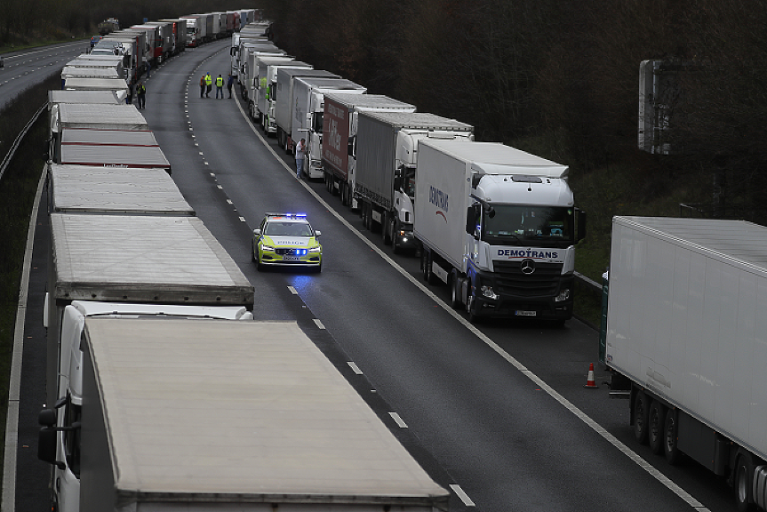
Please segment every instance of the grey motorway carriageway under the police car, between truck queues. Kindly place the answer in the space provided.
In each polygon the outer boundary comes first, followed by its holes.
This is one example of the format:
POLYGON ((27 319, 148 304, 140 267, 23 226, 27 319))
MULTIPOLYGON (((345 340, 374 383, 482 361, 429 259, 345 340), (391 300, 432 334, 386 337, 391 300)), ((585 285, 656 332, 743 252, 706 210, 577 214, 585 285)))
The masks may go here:
MULTIPOLYGON (((446 287, 424 284, 418 259, 392 254, 322 182, 296 180, 292 157, 253 126, 241 100, 199 97, 200 76, 228 68, 221 41, 188 49, 147 81, 142 112, 173 179, 254 285, 254 316, 297 320, 452 491, 451 510, 734 509, 729 488, 706 470, 670 467, 635 444, 626 401, 583 388, 595 331, 574 319, 563 328, 468 324, 446 287), (308 214, 323 233, 321 274, 256 270, 252 228, 264 212, 308 214)), ((44 510, 48 497, 49 469, 34 449, 46 224, 41 212, 24 333, 15 509, 25 512, 44 510)), ((605 379, 597 367, 597 382, 605 379)))

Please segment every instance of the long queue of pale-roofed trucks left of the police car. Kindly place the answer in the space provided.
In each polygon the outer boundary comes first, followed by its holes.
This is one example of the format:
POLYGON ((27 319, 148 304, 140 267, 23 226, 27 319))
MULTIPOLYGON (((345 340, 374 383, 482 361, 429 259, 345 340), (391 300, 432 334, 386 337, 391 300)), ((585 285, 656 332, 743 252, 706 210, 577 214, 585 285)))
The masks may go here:
POLYGON ((97 55, 49 92, 37 454, 52 510, 447 510, 450 493, 298 324, 253 319, 254 287, 112 76, 127 60, 97 55))

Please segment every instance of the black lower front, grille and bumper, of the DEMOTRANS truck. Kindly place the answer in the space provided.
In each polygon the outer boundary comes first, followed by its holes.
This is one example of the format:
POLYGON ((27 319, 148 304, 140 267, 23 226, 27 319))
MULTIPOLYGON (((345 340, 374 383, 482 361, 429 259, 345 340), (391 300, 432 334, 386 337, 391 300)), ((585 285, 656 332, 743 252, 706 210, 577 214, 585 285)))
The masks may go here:
POLYGON ((517 270, 486 272, 469 268, 475 316, 558 321, 572 317, 574 276, 558 275, 551 268, 531 278, 517 270))

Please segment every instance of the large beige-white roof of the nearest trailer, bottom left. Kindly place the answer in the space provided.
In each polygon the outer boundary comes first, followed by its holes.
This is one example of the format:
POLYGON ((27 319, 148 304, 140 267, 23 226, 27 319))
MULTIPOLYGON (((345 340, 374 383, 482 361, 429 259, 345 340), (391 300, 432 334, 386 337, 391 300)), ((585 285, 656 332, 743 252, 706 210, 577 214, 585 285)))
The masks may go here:
POLYGON ((103 469, 124 504, 447 504, 294 322, 87 318, 85 329, 103 469))

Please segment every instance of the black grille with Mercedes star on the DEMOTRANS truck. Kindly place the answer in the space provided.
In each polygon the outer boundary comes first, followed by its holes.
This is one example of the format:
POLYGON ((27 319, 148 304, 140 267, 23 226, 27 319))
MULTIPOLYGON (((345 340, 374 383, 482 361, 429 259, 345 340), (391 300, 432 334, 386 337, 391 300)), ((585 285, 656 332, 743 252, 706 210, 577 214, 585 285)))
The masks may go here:
POLYGON ((493 260, 496 286, 502 295, 515 297, 551 297, 557 292, 562 263, 535 263, 532 274, 523 274, 521 261, 493 260))

